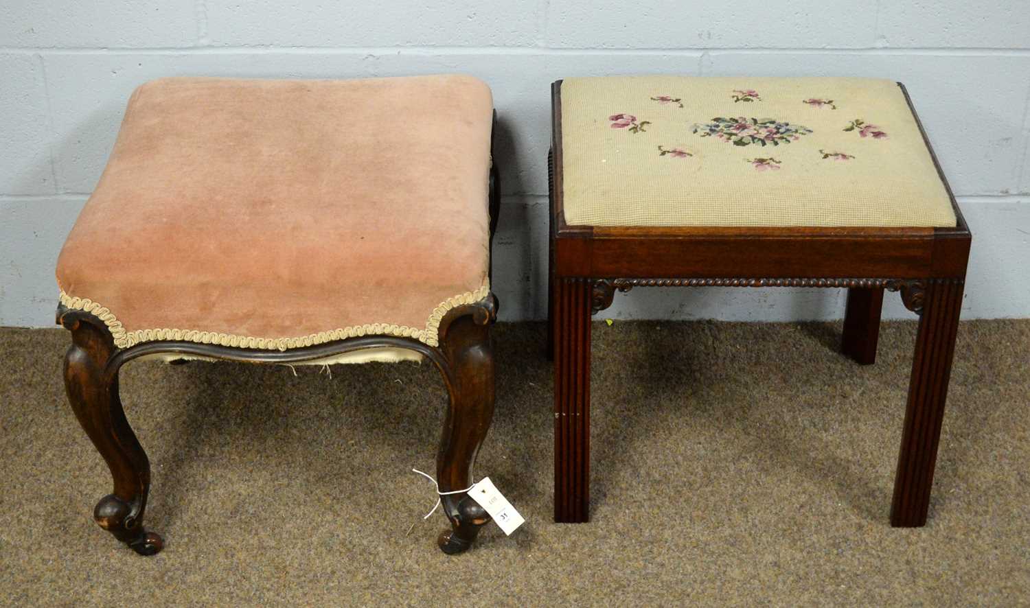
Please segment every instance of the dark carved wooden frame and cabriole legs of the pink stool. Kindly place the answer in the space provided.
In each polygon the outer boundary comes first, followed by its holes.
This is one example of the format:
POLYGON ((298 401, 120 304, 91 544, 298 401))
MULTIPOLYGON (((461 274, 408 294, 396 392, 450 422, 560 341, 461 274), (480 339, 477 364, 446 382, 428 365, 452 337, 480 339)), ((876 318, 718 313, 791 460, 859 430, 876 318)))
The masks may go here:
MULTIPOLYGON (((492 250, 501 202, 500 178, 492 162, 489 180, 492 250)), ((366 335, 286 351, 178 341, 147 342, 119 349, 98 317, 59 306, 57 322, 72 333, 72 345, 64 364, 68 400, 114 478, 113 493, 100 499, 93 512, 94 518, 101 528, 142 556, 152 556, 164 546, 158 534, 143 528, 150 464, 126 420, 118 397, 118 369, 133 359, 159 353, 201 355, 247 363, 300 363, 380 347, 416 351, 440 370, 450 395, 437 452, 440 492, 469 488, 472 485, 471 467, 493 417, 490 325, 496 319, 496 312, 497 299, 493 293, 480 301, 451 309, 440 322, 439 347, 411 337, 366 335)), ((490 517, 468 494, 443 495, 440 499, 451 529, 441 533, 437 542, 445 553, 461 552, 472 545, 480 528, 490 517)))

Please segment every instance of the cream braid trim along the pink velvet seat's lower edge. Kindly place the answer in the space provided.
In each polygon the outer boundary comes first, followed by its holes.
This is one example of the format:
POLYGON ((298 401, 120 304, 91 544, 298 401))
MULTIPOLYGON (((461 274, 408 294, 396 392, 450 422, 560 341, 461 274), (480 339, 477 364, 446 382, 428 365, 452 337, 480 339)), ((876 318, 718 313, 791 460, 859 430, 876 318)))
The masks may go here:
POLYGON ((430 315, 428 321, 425 322, 424 329, 416 329, 414 327, 408 327, 407 325, 394 325, 389 323, 371 323, 344 327, 341 329, 333 329, 332 331, 319 331, 318 333, 311 333, 309 335, 302 335, 299 337, 253 337, 249 335, 236 335, 233 333, 198 331, 196 329, 137 329, 136 331, 128 331, 122 325, 122 321, 118 321, 117 317, 114 316, 114 313, 92 299, 72 297, 65 293, 62 289, 61 303, 69 309, 85 311, 87 313, 98 317, 104 322, 105 325, 107 325, 107 329, 111 332, 111 336, 114 337, 114 346, 119 349, 127 349, 131 346, 144 342, 175 339, 195 342, 198 344, 214 344, 240 349, 284 351, 286 349, 299 349, 302 347, 310 347, 347 337, 357 337, 360 335, 397 335, 403 337, 413 337, 431 347, 440 346, 440 321, 444 318, 444 315, 455 307, 475 303, 486 297, 489 292, 490 284, 489 282, 485 282, 483 283, 483 286, 476 291, 468 291, 445 299, 440 302, 440 305, 433 311, 433 314, 430 315))

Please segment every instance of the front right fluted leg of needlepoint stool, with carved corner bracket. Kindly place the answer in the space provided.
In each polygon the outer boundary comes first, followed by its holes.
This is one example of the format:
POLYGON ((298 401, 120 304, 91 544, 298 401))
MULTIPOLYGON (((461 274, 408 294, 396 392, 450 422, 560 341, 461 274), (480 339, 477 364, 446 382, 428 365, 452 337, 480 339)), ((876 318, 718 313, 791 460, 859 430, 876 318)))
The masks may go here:
POLYGON ((895 527, 926 524, 963 287, 961 279, 934 279, 902 288, 905 305, 921 311, 922 318, 894 480, 891 525, 895 527))

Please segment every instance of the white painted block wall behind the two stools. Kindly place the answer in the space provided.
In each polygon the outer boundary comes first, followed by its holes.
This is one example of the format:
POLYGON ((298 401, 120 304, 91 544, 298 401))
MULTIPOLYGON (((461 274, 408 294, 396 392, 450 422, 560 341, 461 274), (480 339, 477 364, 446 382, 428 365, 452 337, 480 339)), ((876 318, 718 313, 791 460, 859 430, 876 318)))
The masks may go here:
MULTIPOLYGON (((504 182, 505 320, 546 313, 549 84, 636 73, 903 81, 973 233, 964 318, 1030 317, 1030 3, 1025 0, 4 0, 0 325, 53 323, 54 264, 125 103, 160 76, 489 82, 504 182)), ((844 292, 638 289, 615 318, 839 318, 844 292)), ((888 298, 888 318, 912 318, 888 298)))

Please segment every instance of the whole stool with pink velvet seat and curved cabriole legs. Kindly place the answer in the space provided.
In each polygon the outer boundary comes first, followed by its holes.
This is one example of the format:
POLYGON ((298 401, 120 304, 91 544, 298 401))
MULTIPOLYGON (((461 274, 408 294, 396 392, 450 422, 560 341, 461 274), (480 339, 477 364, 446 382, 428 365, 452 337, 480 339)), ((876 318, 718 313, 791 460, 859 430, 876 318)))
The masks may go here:
MULTIPOLYGON (((427 359, 450 394, 441 493, 472 485, 493 414, 489 88, 467 76, 167 78, 133 94, 58 260, 68 399, 110 468, 97 523, 141 555, 150 466, 118 369, 141 357, 427 359), (403 117, 403 119, 399 119, 403 117)), ((443 494, 448 553, 489 521, 443 494)))

